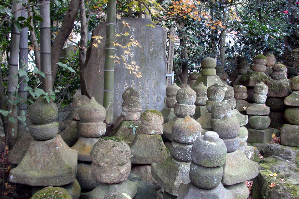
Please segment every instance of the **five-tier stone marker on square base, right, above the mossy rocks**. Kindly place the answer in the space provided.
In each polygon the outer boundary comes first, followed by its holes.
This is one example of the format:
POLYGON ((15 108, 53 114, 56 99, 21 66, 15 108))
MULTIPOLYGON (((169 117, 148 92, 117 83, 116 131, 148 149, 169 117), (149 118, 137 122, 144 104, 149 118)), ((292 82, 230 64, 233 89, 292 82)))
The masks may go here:
POLYGON ((271 122, 268 116, 270 108, 265 104, 268 86, 263 82, 258 83, 254 86, 254 93, 253 100, 255 103, 246 110, 247 115, 250 115, 249 125, 251 127, 248 129, 247 142, 268 143, 272 139, 272 131, 268 128, 271 122))

